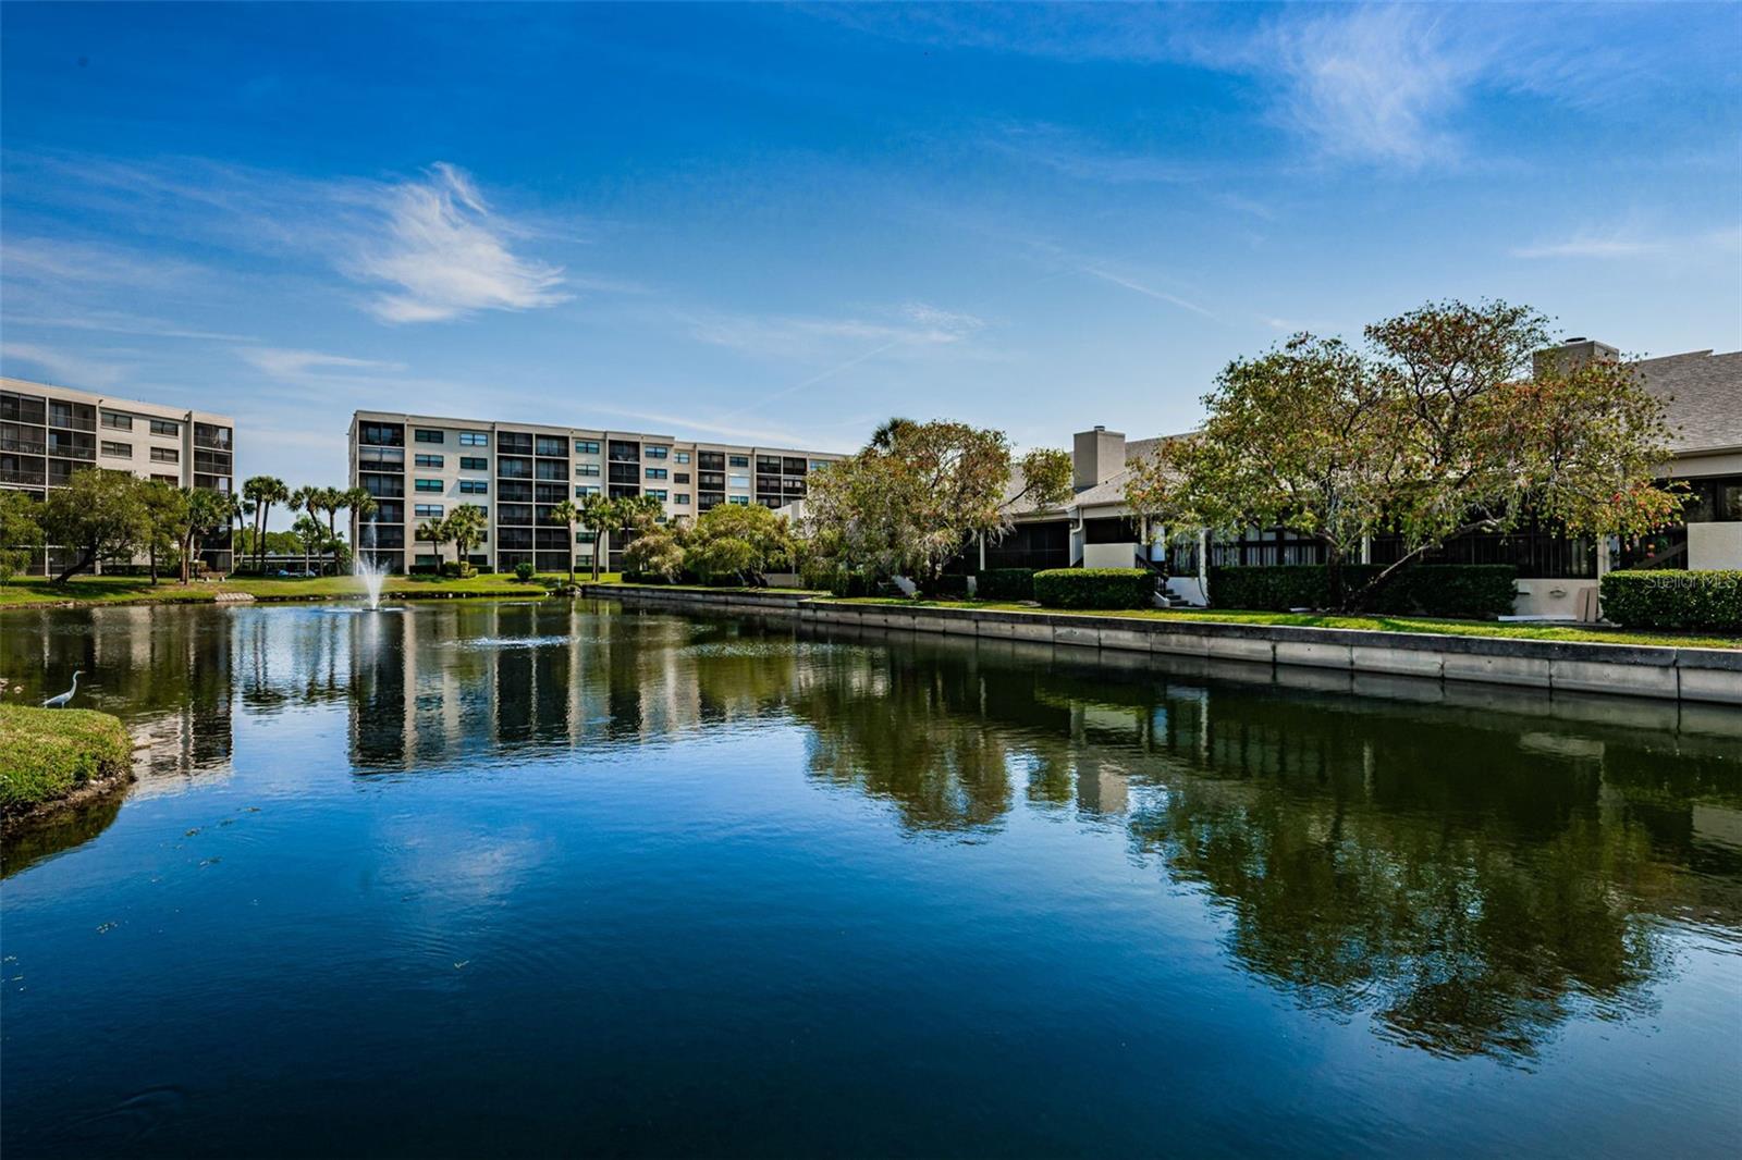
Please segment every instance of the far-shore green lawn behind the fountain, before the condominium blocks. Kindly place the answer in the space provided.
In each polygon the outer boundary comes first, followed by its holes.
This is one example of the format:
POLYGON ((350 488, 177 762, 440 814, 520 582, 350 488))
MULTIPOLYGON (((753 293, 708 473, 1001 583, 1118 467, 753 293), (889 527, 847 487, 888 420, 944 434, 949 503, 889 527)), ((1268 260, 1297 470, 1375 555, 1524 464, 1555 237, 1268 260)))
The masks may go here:
MULTIPOLYGON (((584 580, 582 573, 575 580, 584 580)), ((601 580, 617 580, 608 573, 601 580)), ((439 596, 544 596, 549 589, 566 583, 568 573, 540 573, 533 580, 517 580, 512 573, 479 573, 469 580, 441 577, 387 577, 381 585, 388 597, 439 596)), ((221 583, 179 585, 164 580, 152 585, 148 577, 73 577, 66 583, 51 583, 42 577, 17 577, 0 583, 0 608, 26 604, 199 604, 218 599, 221 592, 247 592, 263 601, 284 599, 357 599, 362 582, 355 577, 233 577, 221 583)))

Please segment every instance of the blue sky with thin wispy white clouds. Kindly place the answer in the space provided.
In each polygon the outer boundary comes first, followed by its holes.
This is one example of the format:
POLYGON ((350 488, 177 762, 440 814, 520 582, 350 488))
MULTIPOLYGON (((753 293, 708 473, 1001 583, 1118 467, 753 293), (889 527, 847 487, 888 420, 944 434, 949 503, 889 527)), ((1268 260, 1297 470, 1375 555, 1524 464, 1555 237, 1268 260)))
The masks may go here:
POLYGON ((1441 296, 1742 347, 1742 5, 0 9, 7 374, 857 448, 1441 296))

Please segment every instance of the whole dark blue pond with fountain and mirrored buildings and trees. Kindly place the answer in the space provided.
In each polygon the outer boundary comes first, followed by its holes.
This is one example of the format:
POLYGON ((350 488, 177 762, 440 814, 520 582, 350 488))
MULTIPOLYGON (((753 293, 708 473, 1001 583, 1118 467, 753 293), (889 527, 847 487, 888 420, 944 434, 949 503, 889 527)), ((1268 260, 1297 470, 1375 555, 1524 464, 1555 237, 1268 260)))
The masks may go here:
POLYGON ((613 603, 0 613, 33 1155, 1718 1155, 1742 719, 613 603), (1287 674, 1286 674, 1287 678, 1287 674))

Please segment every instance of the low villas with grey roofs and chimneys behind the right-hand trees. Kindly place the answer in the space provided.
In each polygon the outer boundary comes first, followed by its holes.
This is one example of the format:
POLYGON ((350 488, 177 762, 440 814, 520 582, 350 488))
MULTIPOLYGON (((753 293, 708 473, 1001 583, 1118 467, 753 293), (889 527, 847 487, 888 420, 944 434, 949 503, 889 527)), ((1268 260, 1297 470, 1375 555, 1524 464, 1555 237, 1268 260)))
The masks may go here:
MULTIPOLYGON (((1618 352, 1585 338, 1542 352, 1554 359, 1615 359, 1618 352)), ((1514 564, 1516 615, 1577 617, 1594 608, 1599 577, 1611 568, 1742 568, 1742 350, 1695 350, 1634 364, 1646 390, 1664 402, 1674 432, 1665 479, 1688 484, 1686 523, 1641 543, 1601 543, 1526 526, 1509 535, 1467 535, 1430 559, 1455 564, 1514 564)), ((1075 495, 1057 509, 1028 509, 1010 535, 976 549, 988 568, 1129 568, 1165 563, 1169 589, 1205 603, 1212 566, 1317 564, 1324 545, 1286 528, 1252 528, 1237 538, 1153 543, 1125 507, 1131 465, 1150 456, 1158 439, 1127 441, 1096 427, 1071 442, 1075 495)), ((1374 536, 1366 559, 1397 559, 1395 538, 1374 536)), ((979 561, 967 561, 979 564, 979 561)))

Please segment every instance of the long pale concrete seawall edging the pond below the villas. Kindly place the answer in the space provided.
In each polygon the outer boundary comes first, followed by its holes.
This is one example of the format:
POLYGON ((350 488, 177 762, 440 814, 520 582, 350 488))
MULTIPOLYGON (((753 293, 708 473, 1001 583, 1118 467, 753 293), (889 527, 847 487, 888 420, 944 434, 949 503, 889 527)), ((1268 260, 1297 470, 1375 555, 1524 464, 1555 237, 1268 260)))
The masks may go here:
POLYGON ((585 585, 634 604, 796 617, 808 625, 1035 641, 1117 653, 1237 660, 1564 693, 1742 705, 1742 650, 1366 632, 982 608, 859 604, 796 592, 585 585))

